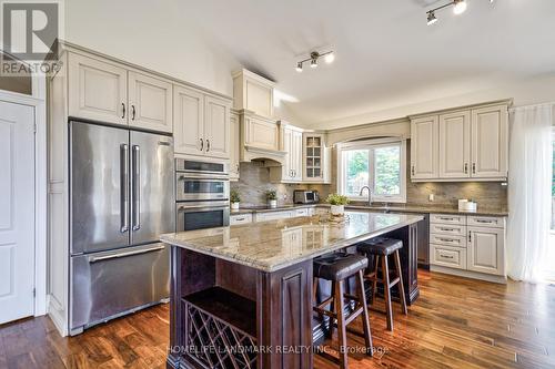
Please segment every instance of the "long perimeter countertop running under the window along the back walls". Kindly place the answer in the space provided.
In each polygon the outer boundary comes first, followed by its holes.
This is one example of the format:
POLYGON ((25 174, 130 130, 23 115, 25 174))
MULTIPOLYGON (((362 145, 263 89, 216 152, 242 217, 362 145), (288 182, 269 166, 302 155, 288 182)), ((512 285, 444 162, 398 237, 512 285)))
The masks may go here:
MULTIPOLYGON (((266 206, 245 206, 241 207, 239 211, 231 211, 231 215, 241 215, 241 214, 254 214, 254 213, 269 213, 269 212, 281 212, 293 208, 303 208, 303 207, 330 207, 327 204, 289 204, 289 205, 280 205, 274 208, 270 208, 266 206)), ((395 213, 416 213, 416 214, 463 214, 463 215, 478 215, 478 216, 508 216, 508 212, 504 209, 496 208, 480 208, 476 212, 464 212, 460 211, 455 207, 447 206, 426 206, 426 205, 393 205, 393 206, 381 206, 381 205, 347 205, 346 209, 355 209, 355 211, 369 211, 369 212, 395 212, 395 213)))

